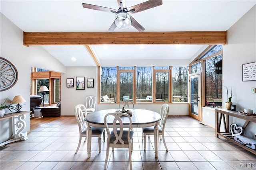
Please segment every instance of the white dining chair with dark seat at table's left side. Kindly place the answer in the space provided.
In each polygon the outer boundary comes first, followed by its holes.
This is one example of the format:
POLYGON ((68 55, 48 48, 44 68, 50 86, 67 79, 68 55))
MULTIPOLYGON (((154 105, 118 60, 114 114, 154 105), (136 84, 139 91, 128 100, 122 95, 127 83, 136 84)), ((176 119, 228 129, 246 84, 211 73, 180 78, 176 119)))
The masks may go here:
MULTIPOLYGON (((85 137, 84 142, 86 142, 86 121, 84 120, 84 116, 86 116, 86 107, 83 104, 78 104, 75 107, 75 115, 76 115, 76 121, 78 123, 79 127, 79 143, 76 149, 76 153, 78 152, 82 137, 85 137), (84 111, 82 111, 84 110, 84 111)), ((101 135, 103 133, 103 141, 105 142, 105 128, 100 127, 92 127, 92 137, 98 137, 98 145, 99 145, 99 152, 101 152, 101 135)))

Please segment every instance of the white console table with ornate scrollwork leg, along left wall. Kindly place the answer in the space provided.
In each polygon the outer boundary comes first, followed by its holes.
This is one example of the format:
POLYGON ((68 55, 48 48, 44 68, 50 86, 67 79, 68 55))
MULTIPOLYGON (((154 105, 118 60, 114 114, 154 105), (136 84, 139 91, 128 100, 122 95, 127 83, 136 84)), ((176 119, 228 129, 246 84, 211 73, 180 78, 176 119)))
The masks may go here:
POLYGON ((0 120, 12 118, 13 132, 13 138, 8 141, 0 143, 0 146, 16 141, 25 141, 28 139, 27 134, 22 133, 22 131, 26 127, 26 122, 24 121, 24 119, 26 118, 25 114, 30 112, 31 111, 22 111, 20 113, 7 113, 4 114, 3 117, 0 117, 0 120))

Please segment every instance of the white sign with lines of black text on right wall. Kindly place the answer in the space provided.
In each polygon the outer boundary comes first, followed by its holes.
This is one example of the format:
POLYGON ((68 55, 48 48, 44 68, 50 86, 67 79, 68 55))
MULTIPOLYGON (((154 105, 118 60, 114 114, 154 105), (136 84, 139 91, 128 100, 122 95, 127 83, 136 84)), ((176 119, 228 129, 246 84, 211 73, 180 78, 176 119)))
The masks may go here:
POLYGON ((243 64, 243 81, 256 80, 256 62, 243 64))

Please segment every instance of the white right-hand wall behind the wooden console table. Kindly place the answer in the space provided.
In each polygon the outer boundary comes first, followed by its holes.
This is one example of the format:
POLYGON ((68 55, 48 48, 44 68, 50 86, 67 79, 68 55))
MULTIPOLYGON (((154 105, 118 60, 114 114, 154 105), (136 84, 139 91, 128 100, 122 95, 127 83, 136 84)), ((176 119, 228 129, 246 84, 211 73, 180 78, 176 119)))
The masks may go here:
MULTIPOLYGON (((242 81, 242 64, 256 62, 256 6, 247 12, 230 29, 228 29, 228 45, 223 46, 222 84, 232 89, 232 102, 236 110, 253 109, 256 113, 256 81, 242 81)), ((230 93, 230 91, 229 91, 230 93)), ((226 102, 226 88, 222 88, 222 106, 226 102)), ((230 123, 243 125, 244 120, 230 118, 230 123)), ((254 137, 256 123, 250 123, 245 135, 254 137)))

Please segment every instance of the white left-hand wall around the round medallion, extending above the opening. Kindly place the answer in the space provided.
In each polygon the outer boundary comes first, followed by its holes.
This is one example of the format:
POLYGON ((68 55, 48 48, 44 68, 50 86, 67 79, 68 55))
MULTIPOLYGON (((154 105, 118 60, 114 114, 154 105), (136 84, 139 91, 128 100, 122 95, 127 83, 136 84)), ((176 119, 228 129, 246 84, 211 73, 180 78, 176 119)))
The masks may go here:
MULTIPOLYGON (((0 92, 1 102, 8 98, 8 104, 14 96, 21 95, 25 100, 22 110, 30 110, 30 67, 37 66, 58 72, 65 72, 65 67, 42 47, 26 47, 23 45, 23 31, 0 13, 1 41, 0 56, 10 61, 17 69, 18 80, 12 88, 0 92)), ((8 113, 8 110, 7 110, 8 113)), ((26 114, 26 129, 30 130, 30 114, 26 114)), ((12 119, 0 121, 0 142, 4 142, 12 135, 12 119)))

